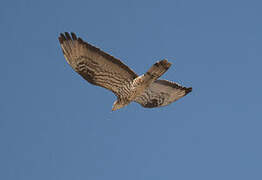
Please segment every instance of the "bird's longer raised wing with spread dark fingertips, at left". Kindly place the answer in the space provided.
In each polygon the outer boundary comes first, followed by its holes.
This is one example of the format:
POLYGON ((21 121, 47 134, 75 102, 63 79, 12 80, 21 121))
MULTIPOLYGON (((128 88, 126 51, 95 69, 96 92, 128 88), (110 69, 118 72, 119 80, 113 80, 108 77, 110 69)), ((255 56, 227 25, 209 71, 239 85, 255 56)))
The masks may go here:
POLYGON ((137 77, 120 60, 84 42, 74 33, 60 34, 59 42, 64 56, 85 80, 91 84, 111 90, 118 96, 119 91, 137 77))

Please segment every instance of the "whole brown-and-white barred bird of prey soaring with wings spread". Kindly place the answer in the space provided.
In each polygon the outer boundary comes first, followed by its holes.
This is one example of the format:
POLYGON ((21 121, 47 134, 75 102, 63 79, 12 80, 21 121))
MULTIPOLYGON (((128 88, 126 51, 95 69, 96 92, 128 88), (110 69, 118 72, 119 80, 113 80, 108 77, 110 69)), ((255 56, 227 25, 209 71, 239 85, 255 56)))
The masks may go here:
POLYGON ((175 82, 158 80, 171 66, 156 62, 138 76, 119 59, 83 41, 74 33, 60 34, 59 42, 68 64, 89 83, 111 90, 117 97, 112 111, 134 101, 145 108, 166 106, 192 91, 175 82))

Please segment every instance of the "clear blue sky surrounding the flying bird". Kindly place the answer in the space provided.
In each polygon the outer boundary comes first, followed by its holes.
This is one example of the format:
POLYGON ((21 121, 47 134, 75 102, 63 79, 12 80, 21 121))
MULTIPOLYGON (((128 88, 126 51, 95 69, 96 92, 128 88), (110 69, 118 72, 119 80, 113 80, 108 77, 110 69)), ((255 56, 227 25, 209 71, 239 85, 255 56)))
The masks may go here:
POLYGON ((1 180, 261 180, 261 1, 1 1, 1 180), (193 92, 165 108, 114 95, 66 63, 73 31, 138 74, 193 92))

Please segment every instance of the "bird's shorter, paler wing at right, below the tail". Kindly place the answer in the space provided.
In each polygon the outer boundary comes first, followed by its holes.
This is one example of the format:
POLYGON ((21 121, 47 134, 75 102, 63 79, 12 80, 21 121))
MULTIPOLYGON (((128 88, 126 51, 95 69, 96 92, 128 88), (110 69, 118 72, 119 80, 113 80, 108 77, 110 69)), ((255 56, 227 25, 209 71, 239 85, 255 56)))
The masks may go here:
POLYGON ((135 101, 146 108, 166 106, 191 91, 191 87, 186 88, 167 80, 156 80, 135 101))

